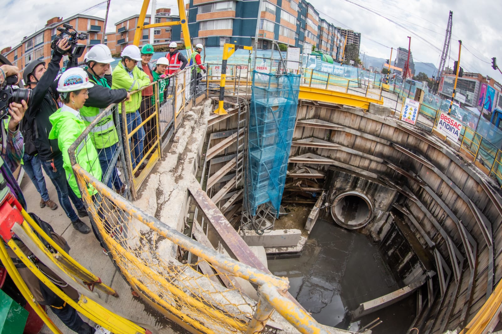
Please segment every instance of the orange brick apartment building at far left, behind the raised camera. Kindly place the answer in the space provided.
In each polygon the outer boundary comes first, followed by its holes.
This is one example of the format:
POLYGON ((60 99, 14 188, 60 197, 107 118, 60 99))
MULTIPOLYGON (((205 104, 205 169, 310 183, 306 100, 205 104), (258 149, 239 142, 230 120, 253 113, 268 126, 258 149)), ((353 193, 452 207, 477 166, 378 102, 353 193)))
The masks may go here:
POLYGON ((24 37, 21 43, 15 47, 5 48, 0 53, 20 69, 25 68, 26 64, 35 59, 49 61, 52 55, 51 43, 56 35, 59 35, 57 28, 62 27, 65 23, 72 25, 79 33, 87 33, 88 35, 86 41, 79 41, 80 44, 87 46, 82 56, 78 59, 79 61, 83 61, 87 50, 93 45, 101 43, 104 24, 104 20, 101 18, 80 14, 65 20, 58 17, 52 18, 47 21, 44 28, 30 36, 24 37))

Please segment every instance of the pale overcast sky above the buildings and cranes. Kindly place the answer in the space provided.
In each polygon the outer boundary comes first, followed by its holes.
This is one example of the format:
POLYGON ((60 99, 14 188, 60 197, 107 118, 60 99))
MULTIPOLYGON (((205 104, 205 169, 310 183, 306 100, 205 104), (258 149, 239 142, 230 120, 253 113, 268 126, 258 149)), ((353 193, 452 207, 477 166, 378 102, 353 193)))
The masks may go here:
MULTIPOLYGON (((8 0, 3 15, 9 20, 4 20, 4 25, 0 26, 0 49, 19 44, 23 36, 33 34, 55 16, 68 18, 82 13, 104 18, 106 2, 98 5, 101 2, 8 0), (98 6, 88 10, 94 5, 98 6), (8 25, 7 22, 12 24, 8 25)), ((142 3, 141 0, 111 0, 106 31, 114 31, 115 22, 139 14, 142 3)), ((498 65, 502 68, 502 2, 499 0, 311 0, 310 3, 321 18, 335 26, 360 32, 361 53, 389 58, 390 48, 407 48, 407 36, 411 36, 414 61, 433 63, 436 67, 439 65, 451 10, 453 28, 450 57, 455 60, 458 58, 460 39, 460 63, 464 71, 488 75, 502 83, 502 75, 491 68, 491 57, 497 57, 498 65)), ((157 8, 161 7, 170 7, 173 14, 178 13, 174 0, 159 0, 157 8)), ((394 51, 393 59, 395 55, 394 51)), ((453 60, 450 60, 450 67, 452 64, 453 60)))

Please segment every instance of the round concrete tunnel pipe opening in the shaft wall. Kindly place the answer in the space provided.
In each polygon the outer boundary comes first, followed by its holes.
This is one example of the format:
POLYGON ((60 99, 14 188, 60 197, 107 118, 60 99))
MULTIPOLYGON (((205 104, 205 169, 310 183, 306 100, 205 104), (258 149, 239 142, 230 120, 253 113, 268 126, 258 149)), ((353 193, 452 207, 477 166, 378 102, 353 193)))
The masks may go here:
POLYGON ((373 215, 371 201, 363 194, 351 191, 338 195, 331 206, 334 221, 350 230, 365 226, 373 215))

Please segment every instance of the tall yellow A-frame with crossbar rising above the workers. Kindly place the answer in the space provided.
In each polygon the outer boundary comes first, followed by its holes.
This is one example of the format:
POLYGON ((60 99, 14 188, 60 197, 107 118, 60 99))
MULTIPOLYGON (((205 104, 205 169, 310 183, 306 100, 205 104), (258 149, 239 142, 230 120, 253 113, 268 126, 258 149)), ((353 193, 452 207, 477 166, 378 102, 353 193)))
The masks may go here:
MULTIPOLYGON (((190 41, 190 32, 188 31, 188 20, 185 12, 185 3, 183 0, 178 0, 178 11, 180 12, 180 21, 172 22, 162 22, 162 23, 151 23, 145 25, 145 18, 147 17, 148 6, 150 5, 150 0, 143 0, 143 6, 141 7, 140 17, 138 18, 138 26, 136 27, 136 32, 134 33, 133 44, 140 46, 140 40, 143 36, 143 29, 167 27, 167 26, 177 26, 181 25, 181 31, 183 33, 183 40, 185 41, 185 49, 188 52, 188 57, 192 54, 192 42, 190 41)), ((152 22, 154 18, 151 18, 152 22)))

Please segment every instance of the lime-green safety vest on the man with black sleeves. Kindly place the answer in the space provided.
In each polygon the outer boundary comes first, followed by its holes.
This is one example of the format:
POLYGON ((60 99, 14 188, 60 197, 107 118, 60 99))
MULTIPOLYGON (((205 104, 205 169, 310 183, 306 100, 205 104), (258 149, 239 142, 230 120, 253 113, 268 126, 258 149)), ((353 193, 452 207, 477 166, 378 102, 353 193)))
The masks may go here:
MULTIPOLYGON (((95 78, 93 75, 90 75, 89 80, 98 86, 111 89, 104 78, 95 78)), ((80 108, 80 116, 82 116, 85 125, 88 126, 103 110, 96 107, 83 106, 80 108)), ((113 122, 112 110, 109 110, 106 116, 94 126, 91 132, 89 132, 89 137, 97 149, 109 147, 118 142, 118 134, 113 122)))

